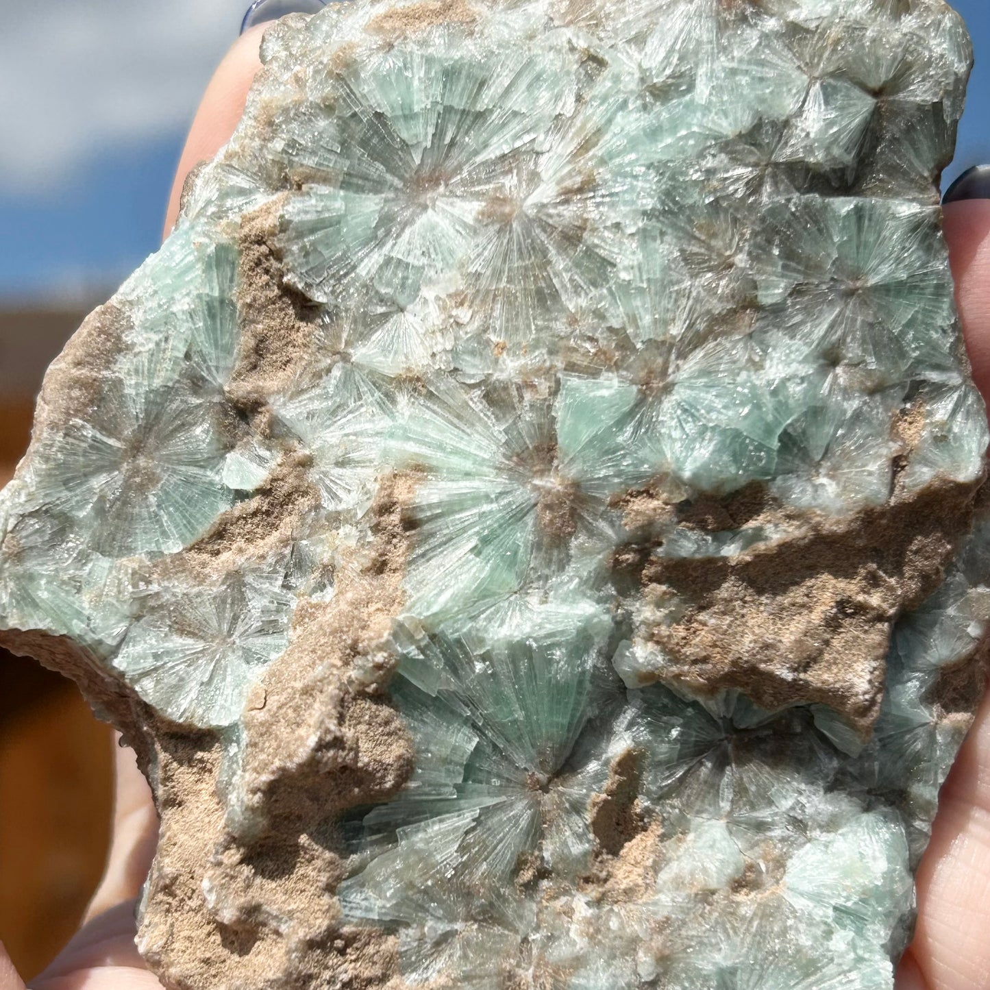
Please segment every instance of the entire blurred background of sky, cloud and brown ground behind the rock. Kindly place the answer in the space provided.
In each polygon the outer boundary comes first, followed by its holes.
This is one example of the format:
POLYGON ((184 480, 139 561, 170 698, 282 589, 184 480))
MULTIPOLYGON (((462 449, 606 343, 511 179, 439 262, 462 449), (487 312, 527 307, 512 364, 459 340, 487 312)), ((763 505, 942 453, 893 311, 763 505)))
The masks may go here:
MULTIPOLYGON (((0 485, 49 360, 158 244, 186 128, 248 0, 0 0, 0 485)), ((977 65, 951 181, 990 162, 990 4, 953 0, 977 65)), ((36 975, 103 865, 110 731, 0 655, 0 940, 36 975)))

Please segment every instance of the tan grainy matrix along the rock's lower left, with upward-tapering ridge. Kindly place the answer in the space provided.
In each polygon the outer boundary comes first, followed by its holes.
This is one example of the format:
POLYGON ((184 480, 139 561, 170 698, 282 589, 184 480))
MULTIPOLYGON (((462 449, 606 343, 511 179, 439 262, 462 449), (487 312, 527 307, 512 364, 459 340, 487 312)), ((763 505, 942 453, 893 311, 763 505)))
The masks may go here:
POLYGON ((393 936, 341 924, 334 822, 390 798, 413 767, 408 734, 378 685, 391 671, 384 647, 403 601, 405 506, 417 480, 382 482, 370 544, 339 570, 330 603, 299 610, 288 650, 248 701, 239 781, 253 831, 225 818, 229 771, 216 733, 161 718, 63 637, 0 634, 0 645, 76 681, 135 748, 160 819, 139 947, 167 987, 403 985, 393 936))

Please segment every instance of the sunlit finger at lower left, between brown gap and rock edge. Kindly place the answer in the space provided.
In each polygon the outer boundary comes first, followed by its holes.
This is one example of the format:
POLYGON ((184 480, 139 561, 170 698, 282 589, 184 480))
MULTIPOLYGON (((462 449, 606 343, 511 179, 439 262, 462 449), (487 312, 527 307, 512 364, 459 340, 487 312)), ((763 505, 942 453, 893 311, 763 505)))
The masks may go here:
POLYGON ((105 911, 138 896, 148 876, 158 838, 158 817, 151 801, 151 791, 134 750, 119 743, 114 734, 116 791, 114 797, 113 838, 107 866, 100 885, 86 909, 88 922, 105 911))

